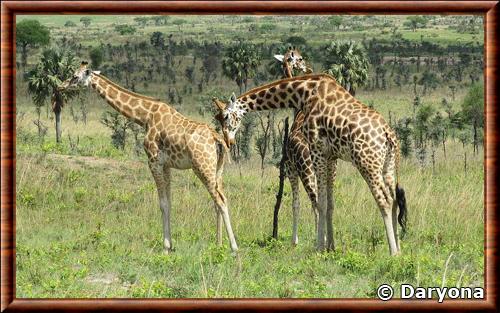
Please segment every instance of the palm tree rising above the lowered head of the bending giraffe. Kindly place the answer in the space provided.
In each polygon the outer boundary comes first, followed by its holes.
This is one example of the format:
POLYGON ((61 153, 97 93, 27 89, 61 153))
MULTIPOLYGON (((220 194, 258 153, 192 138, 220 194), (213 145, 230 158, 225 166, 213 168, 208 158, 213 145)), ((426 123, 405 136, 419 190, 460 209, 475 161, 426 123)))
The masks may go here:
POLYGON ((242 94, 243 88, 247 90, 248 79, 255 76, 259 64, 260 56, 256 47, 239 41, 226 50, 222 70, 225 76, 236 82, 242 94))

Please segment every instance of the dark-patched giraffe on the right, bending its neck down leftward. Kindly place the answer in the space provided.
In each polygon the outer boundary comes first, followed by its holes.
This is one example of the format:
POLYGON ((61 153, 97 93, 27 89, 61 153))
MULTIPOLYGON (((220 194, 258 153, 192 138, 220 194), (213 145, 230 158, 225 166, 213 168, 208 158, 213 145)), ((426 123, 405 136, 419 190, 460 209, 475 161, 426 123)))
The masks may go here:
POLYGON ((399 143, 393 129, 327 74, 304 75, 254 88, 221 107, 223 134, 234 143, 241 120, 249 111, 293 107, 304 112, 302 131, 309 144, 316 175, 317 249, 333 244, 333 207, 327 205, 327 184, 337 159, 351 162, 375 198, 385 226, 391 255, 400 253, 397 223, 406 230, 406 198, 399 186, 399 143), (399 208, 399 214, 398 214, 399 208), (325 236, 326 227, 326 236, 325 236), (326 238, 325 238, 326 237, 326 238), (326 241, 326 242, 325 242, 326 241))

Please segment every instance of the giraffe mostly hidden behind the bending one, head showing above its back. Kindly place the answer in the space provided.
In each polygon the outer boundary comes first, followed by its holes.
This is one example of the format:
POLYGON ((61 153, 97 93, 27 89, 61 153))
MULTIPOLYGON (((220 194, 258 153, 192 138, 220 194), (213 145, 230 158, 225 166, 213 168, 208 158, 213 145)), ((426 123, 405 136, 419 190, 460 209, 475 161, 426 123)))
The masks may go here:
MULTIPOLYGON (((283 78, 292 78, 294 69, 301 70, 305 73, 312 72, 312 69, 307 67, 304 58, 301 53, 295 47, 289 47, 285 55, 275 55, 278 61, 282 63, 283 78)), ((304 189, 313 203, 317 199, 317 187, 316 187, 316 177, 314 175, 313 163, 311 160, 311 153, 309 151, 309 144, 302 132, 302 126, 304 124, 304 113, 302 111, 296 111, 294 116, 294 121, 290 130, 290 134, 287 140, 287 146, 285 147, 286 161, 285 161, 285 175, 290 181, 292 187, 292 212, 293 212, 293 228, 292 228, 292 244, 297 245, 299 242, 298 238, 298 219, 300 210, 300 200, 299 200, 299 178, 304 186, 304 189)), ((332 164, 332 176, 328 181, 327 186, 327 203, 328 206, 332 207, 333 210, 333 181, 336 176, 336 162, 332 164)), ((313 213, 315 217, 315 225, 318 225, 318 212, 316 207, 313 205, 313 213)), ((334 243, 332 241, 331 249, 334 249, 334 243)))

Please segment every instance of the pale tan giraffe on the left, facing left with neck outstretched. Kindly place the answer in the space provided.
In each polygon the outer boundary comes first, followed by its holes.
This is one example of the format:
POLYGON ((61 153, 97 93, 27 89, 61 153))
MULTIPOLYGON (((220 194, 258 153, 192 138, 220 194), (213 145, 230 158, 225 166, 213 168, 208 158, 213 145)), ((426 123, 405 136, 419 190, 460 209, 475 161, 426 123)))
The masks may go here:
POLYGON ((164 102, 131 92, 112 82, 99 71, 91 71, 82 62, 73 77, 61 89, 89 86, 115 110, 146 130, 144 149, 156 183, 163 220, 163 247, 172 250, 171 168, 192 169, 207 188, 215 203, 217 243, 222 244, 222 221, 233 252, 238 250, 229 219, 228 203, 222 187, 222 171, 227 145, 207 124, 192 121, 164 102))

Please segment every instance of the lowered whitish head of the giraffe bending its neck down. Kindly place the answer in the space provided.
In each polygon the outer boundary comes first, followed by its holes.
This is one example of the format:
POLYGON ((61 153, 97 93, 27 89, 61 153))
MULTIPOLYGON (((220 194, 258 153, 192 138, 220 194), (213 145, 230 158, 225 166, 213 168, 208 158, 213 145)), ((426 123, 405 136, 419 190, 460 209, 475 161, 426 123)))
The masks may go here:
POLYGON ((213 98, 214 104, 219 109, 219 113, 216 118, 222 124, 222 133, 224 134, 224 140, 231 146, 235 143, 236 133, 241 126, 241 121, 243 116, 245 116, 246 110, 243 108, 243 104, 239 99, 236 99, 236 95, 233 93, 229 99, 229 104, 213 98))

